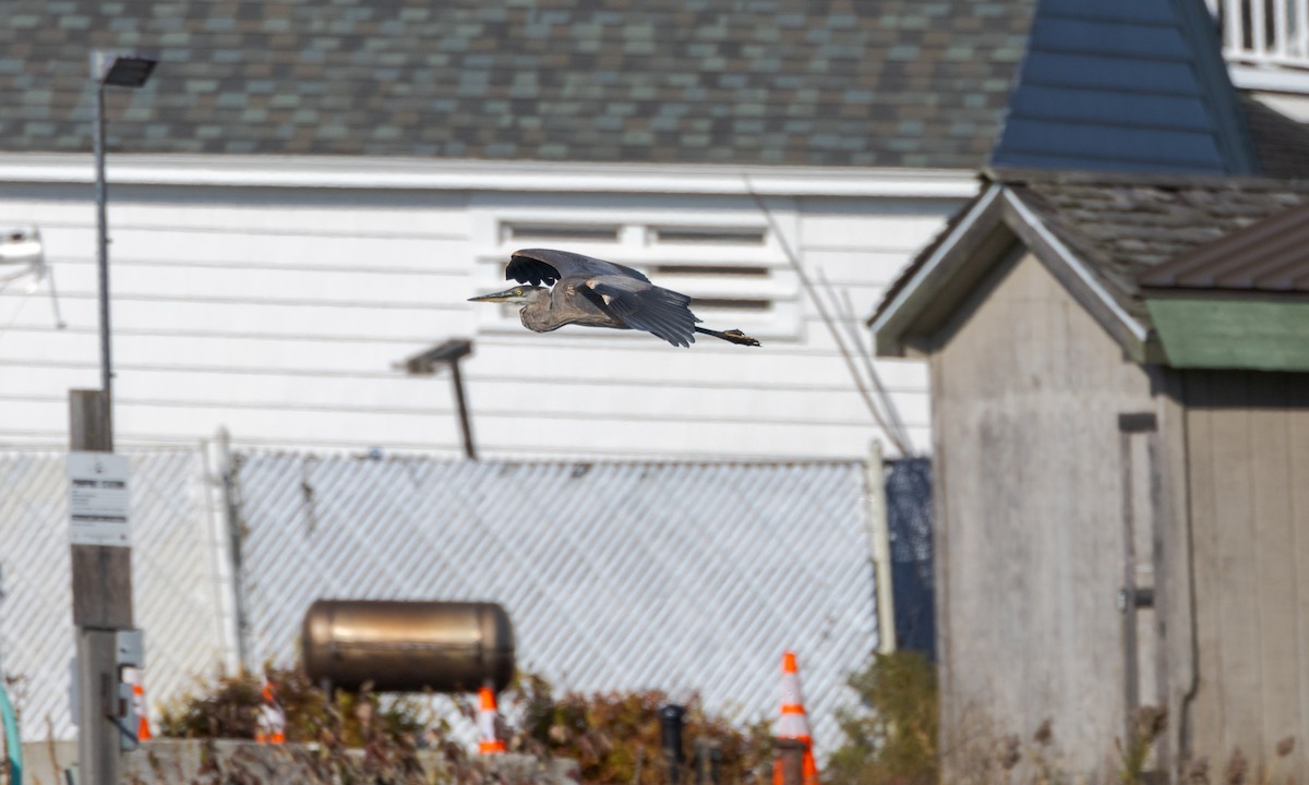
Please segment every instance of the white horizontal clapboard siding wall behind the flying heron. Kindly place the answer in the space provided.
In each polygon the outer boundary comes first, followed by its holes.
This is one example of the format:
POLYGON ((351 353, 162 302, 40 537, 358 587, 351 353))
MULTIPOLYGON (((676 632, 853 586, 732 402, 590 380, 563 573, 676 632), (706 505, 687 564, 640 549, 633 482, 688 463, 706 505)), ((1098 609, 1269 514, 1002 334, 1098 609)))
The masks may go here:
MULTIPOLYGON (((68 389, 99 383, 85 164, 0 162, 0 225, 41 228, 68 323, 55 328, 46 284, 0 292, 0 445, 67 444, 68 389)), ((535 335, 507 327, 493 306, 466 302, 503 284, 500 262, 525 245, 500 229, 507 220, 618 222, 624 229, 609 245, 530 245, 635 263, 662 258, 645 247, 643 221, 766 228, 740 175, 626 167, 518 177, 475 165, 471 174, 424 175, 421 164, 378 164, 385 177, 370 177, 367 161, 355 175, 325 174, 318 162, 200 166, 110 167, 120 445, 194 442, 226 428, 237 445, 457 454, 449 381, 408 378, 393 364, 463 336, 474 339, 465 377, 487 457, 852 458, 880 437, 771 233, 754 250, 702 249, 723 263, 768 260, 766 289, 792 309, 791 327, 702 313, 709 326, 758 328, 761 349, 713 339, 675 349, 584 328, 535 335)), ((848 297, 859 321, 973 188, 962 175, 931 173, 768 174, 754 187, 768 194, 787 243, 810 276, 848 297)), ((715 297, 737 287, 691 283, 715 297)), ((924 368, 877 368, 925 450, 924 368)))

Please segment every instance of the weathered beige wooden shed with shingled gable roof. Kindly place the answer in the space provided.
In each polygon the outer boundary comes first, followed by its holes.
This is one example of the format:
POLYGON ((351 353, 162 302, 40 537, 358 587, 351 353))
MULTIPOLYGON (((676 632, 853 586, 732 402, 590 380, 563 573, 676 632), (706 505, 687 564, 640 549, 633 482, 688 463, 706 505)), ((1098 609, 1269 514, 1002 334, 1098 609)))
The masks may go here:
MULTIPOLYGON (((931 364, 942 748, 1309 776, 1309 183, 991 171, 872 319, 931 364), (1141 179, 1148 177, 1148 179, 1141 179)), ((950 771, 948 768, 948 771, 950 771)), ((1217 771, 1215 772, 1217 777, 1217 771)))

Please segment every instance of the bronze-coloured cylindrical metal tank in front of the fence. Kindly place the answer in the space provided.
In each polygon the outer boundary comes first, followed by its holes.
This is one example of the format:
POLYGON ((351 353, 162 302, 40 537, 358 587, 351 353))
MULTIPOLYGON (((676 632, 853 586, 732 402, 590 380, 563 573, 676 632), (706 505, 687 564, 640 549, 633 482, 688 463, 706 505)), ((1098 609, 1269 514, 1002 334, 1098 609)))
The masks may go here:
POLYGON ((319 599, 302 646, 309 676, 344 689, 500 691, 513 676, 513 628, 493 602, 319 599))

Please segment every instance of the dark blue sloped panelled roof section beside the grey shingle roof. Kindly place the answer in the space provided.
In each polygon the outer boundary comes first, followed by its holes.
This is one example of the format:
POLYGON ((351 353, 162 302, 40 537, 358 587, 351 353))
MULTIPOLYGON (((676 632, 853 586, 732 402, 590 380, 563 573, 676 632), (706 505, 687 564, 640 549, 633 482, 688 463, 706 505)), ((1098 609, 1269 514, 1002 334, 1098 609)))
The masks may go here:
POLYGON ((1257 171, 1213 21, 1199 0, 1041 0, 992 161, 1257 171))

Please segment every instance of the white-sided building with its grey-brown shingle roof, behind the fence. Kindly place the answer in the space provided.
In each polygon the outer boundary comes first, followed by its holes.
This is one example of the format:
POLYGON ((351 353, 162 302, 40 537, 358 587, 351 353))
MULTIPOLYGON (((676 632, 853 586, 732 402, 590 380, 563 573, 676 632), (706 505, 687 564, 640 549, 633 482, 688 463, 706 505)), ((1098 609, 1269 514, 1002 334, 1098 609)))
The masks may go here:
MULTIPOLYGON (((0 446, 67 444, 68 390, 99 386, 94 46, 160 58, 109 94, 119 445, 457 455, 449 382, 395 364, 467 338, 483 457, 894 454, 856 324, 977 192, 1026 3, 703 5, 0 10, 0 226, 41 230, 67 322, 48 280, 0 292, 0 446), (542 246, 637 266, 764 345, 535 335, 466 302, 542 246)), ((927 450, 925 370, 874 365, 927 450)))

